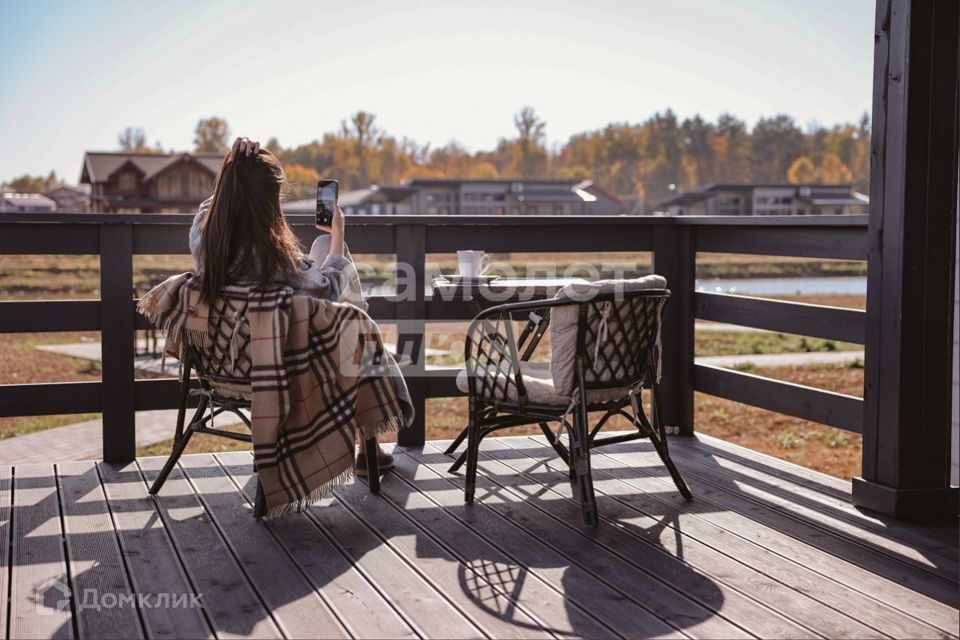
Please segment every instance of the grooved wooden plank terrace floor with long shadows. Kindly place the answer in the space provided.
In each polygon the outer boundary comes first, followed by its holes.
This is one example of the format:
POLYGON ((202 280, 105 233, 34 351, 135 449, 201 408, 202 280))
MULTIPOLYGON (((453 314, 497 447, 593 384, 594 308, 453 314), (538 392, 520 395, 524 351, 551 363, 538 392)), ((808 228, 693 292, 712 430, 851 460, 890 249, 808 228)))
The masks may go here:
POLYGON ((0 467, 7 637, 956 637, 956 522, 896 522, 849 483, 709 437, 594 452, 580 525, 542 439, 484 442, 477 501, 442 442, 307 513, 251 516, 247 453, 0 467))

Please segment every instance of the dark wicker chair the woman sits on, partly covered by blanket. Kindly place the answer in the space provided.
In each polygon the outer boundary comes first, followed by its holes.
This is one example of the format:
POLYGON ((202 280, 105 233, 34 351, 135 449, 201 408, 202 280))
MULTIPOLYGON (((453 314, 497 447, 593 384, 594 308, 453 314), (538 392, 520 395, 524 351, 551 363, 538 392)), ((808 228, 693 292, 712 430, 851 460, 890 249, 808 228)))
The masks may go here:
MULTIPOLYGON (((183 375, 180 382, 180 404, 177 426, 173 437, 173 451, 164 464, 160 475, 150 487, 156 494, 163 487, 167 476, 187 448, 194 433, 206 433, 241 442, 252 442, 250 433, 224 431, 213 426, 216 416, 230 412, 239 417, 250 429, 250 419, 243 411, 251 408, 250 371, 250 324, 247 321, 246 301, 221 298, 210 305, 208 330, 211 339, 209 351, 184 345, 183 375), (231 342, 234 342, 231 349, 231 342), (231 351, 234 357, 231 357, 231 351), (190 374, 196 370, 197 388, 191 388, 190 374), (189 396, 199 396, 199 404, 184 425, 189 396), (208 411, 209 410, 209 411, 208 411), (210 426, 208 426, 210 425, 210 426)), ((377 440, 370 438, 364 443, 368 465, 367 478, 372 493, 380 492, 380 470, 377 464, 377 440)), ((266 513, 266 501, 259 481, 253 515, 262 518, 266 513)))

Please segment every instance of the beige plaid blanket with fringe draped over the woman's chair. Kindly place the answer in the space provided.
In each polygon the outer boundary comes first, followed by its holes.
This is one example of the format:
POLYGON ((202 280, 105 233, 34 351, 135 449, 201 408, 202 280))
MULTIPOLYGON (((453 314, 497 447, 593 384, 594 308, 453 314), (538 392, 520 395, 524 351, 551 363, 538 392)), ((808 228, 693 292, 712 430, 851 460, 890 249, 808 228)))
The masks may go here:
MULTIPOLYGON (((357 430, 366 439, 410 424, 413 404, 376 323, 349 305, 290 287, 228 287, 246 296, 254 459, 268 518, 302 510, 353 476, 357 430)), ((138 310, 168 351, 209 349, 209 307, 193 274, 173 276, 138 310)), ((232 354, 235 356, 235 354, 232 354)))

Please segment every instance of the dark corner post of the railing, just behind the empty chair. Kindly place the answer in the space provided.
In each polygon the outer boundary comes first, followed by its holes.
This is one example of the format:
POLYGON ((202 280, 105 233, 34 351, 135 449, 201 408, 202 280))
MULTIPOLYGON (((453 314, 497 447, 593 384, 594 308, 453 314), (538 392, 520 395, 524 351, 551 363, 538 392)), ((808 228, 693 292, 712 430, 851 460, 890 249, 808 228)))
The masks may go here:
POLYGON ((693 227, 658 225, 653 232, 653 271, 667 279, 670 302, 663 317, 664 424, 693 433, 693 292, 696 253, 693 227))

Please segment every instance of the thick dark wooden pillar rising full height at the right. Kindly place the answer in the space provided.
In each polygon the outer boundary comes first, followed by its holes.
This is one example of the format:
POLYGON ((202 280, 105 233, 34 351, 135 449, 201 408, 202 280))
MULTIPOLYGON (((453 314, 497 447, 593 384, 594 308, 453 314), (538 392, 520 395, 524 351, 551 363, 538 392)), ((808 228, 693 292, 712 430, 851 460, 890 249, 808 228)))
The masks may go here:
POLYGON ((957 0, 878 0, 863 475, 854 504, 955 515, 949 486, 957 0))

